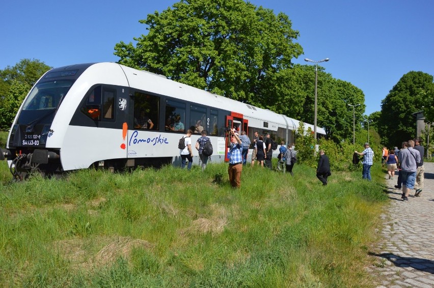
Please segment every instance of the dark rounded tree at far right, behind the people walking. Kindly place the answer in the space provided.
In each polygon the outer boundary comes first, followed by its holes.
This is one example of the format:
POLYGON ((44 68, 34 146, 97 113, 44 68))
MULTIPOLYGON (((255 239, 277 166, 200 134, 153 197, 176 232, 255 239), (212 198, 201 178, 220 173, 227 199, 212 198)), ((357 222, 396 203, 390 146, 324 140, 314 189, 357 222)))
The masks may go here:
MULTIPOLYGON (((416 136, 414 113, 424 110, 426 98, 432 90, 432 80, 432 75, 410 71, 399 79, 382 100, 378 133, 385 146, 400 147, 402 141, 416 136)), ((428 105, 433 104, 430 102, 428 105)))

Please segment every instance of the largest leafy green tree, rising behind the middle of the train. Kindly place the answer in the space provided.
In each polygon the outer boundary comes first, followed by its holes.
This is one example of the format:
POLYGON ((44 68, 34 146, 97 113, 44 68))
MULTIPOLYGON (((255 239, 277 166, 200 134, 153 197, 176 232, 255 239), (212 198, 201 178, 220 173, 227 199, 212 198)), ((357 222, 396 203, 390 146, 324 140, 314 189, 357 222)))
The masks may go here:
POLYGON ((181 0, 140 23, 149 33, 116 44, 120 64, 259 107, 303 53, 287 15, 242 0, 181 0))

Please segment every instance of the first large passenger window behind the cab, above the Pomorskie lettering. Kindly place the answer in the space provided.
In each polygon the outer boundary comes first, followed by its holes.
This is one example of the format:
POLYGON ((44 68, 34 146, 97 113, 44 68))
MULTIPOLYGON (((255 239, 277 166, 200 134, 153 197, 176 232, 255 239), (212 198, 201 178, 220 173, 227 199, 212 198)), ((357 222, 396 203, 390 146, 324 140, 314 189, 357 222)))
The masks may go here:
POLYGON ((160 98, 134 93, 134 128, 158 130, 160 98))

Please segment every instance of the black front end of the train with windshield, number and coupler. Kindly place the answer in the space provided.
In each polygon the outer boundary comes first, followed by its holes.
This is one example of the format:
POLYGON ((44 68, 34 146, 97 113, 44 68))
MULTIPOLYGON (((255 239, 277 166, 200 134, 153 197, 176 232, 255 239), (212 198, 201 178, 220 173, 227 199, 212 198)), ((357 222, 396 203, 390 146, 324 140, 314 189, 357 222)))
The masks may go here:
POLYGON ((15 180, 23 180, 33 171, 44 175, 62 172, 60 149, 46 148, 46 143, 58 108, 83 68, 86 67, 48 71, 24 99, 9 132, 7 147, 0 149, 0 160, 7 158, 15 180))

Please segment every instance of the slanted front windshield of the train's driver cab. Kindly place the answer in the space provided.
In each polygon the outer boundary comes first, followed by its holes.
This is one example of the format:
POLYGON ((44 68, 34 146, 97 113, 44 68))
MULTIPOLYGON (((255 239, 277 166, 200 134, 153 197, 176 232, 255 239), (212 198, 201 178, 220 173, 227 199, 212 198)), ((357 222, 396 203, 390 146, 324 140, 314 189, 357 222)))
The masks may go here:
POLYGON ((68 90, 72 81, 52 81, 39 83, 33 88, 23 110, 56 109, 68 90))

